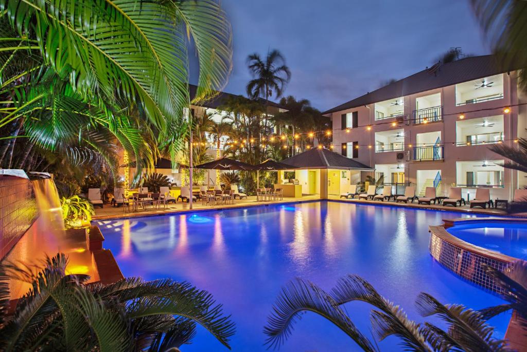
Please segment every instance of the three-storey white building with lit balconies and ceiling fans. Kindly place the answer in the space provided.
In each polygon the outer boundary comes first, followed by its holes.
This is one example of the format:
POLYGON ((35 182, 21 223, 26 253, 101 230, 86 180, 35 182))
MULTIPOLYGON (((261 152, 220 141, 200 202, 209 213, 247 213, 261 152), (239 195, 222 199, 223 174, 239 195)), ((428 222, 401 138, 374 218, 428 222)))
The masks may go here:
POLYGON ((471 199, 475 187, 489 187, 493 199, 510 199, 526 175, 504 169, 489 146, 517 147, 526 137, 525 102, 516 72, 487 55, 427 67, 324 115, 333 150, 374 167, 369 175, 398 192, 411 184, 418 194, 428 186, 447 194, 457 186, 471 199))

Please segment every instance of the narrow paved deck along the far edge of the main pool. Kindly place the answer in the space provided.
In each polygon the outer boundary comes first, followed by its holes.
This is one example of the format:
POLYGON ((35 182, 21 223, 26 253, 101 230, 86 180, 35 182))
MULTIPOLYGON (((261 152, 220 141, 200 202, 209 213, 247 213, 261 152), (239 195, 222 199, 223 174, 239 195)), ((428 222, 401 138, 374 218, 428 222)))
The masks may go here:
MULTIPOLYGON (((249 207, 249 206, 259 206, 259 205, 269 205, 269 204, 283 204, 283 203, 295 203, 295 202, 309 202, 313 200, 321 199, 318 195, 304 195, 302 197, 284 197, 283 200, 277 200, 273 202, 260 202, 256 200, 256 196, 249 196, 243 199, 236 199, 234 204, 219 204, 219 205, 202 205, 200 201, 193 203, 192 210, 213 210, 213 209, 228 209, 228 208, 239 208, 239 207, 249 207)), ((443 205, 422 205, 416 203, 395 203, 395 202, 380 202, 379 200, 359 200, 339 198, 338 196, 329 195, 327 198, 329 200, 338 200, 341 202, 350 202, 350 203, 360 203, 360 204, 378 204, 378 205, 391 205, 398 207, 411 207, 411 208, 421 208, 421 209, 435 209, 435 210, 447 210, 450 212, 461 212, 461 213, 470 213, 470 214, 485 214, 489 216, 495 215, 509 215, 505 212, 504 209, 494 209, 494 208, 470 208, 469 205, 464 205, 461 207, 452 207, 452 206, 443 206, 443 205)), ((171 203, 165 209, 147 209, 140 210, 139 212, 128 212, 123 209, 123 207, 114 207, 111 205, 104 205, 104 208, 95 208, 95 216, 93 220, 108 220, 115 218, 124 218, 124 217, 136 217, 136 216, 151 216, 158 214, 171 214, 179 212, 188 212, 190 210, 188 203, 177 202, 175 204, 171 203)), ((512 216, 521 216, 527 217, 527 213, 514 214, 512 216)))

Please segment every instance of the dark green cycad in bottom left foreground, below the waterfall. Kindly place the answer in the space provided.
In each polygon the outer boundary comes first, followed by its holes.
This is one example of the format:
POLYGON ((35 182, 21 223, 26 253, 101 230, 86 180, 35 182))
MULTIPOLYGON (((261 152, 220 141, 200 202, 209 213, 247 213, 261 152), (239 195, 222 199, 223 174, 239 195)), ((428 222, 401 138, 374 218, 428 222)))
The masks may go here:
POLYGON ((206 328, 229 347, 234 324, 207 291, 171 279, 126 278, 87 285, 89 276, 66 274, 63 254, 43 268, 0 268, 2 351, 176 351, 206 328), (7 315, 8 278, 32 285, 7 315))

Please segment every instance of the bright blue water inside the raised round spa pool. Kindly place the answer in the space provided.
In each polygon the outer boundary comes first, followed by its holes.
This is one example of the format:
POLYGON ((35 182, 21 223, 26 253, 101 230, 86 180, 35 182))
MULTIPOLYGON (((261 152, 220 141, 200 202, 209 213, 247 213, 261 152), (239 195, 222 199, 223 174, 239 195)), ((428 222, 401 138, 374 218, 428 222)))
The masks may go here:
POLYGON ((448 229, 452 235, 473 245, 511 257, 527 259, 526 223, 469 223, 448 229))

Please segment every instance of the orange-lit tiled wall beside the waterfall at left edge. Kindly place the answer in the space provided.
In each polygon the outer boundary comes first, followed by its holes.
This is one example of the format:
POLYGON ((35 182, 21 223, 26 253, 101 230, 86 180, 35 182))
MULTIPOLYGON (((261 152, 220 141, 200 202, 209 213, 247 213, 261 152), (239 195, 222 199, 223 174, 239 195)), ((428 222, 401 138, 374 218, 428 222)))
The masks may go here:
POLYGON ((37 218, 33 186, 27 178, 0 175, 0 259, 37 218))

